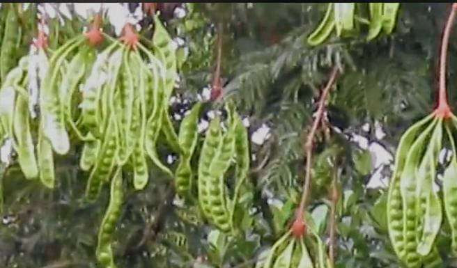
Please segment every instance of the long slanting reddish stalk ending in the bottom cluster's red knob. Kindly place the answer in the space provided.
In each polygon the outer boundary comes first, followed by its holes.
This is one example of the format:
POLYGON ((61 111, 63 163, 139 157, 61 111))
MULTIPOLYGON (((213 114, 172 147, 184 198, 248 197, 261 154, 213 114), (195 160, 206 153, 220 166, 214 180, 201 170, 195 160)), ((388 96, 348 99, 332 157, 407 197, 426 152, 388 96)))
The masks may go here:
POLYGON ((314 136, 316 136, 316 131, 318 126, 323 118, 324 114, 324 107, 325 107, 325 100, 327 100, 327 95, 332 88, 334 81, 336 80, 336 76, 338 75, 338 67, 335 66, 330 74, 330 79, 327 82, 327 85, 323 89, 320 100, 318 104, 318 111, 316 112, 316 118, 314 119, 313 125, 311 127, 311 131, 307 136, 307 141, 304 144, 304 150, 306 151, 306 170, 304 176, 304 186, 303 186, 303 194, 302 200, 300 200, 300 206, 297 209, 297 213, 295 214, 295 221, 293 222, 292 232, 293 235, 296 237, 300 237, 306 232, 306 224, 303 220, 303 211, 304 207, 307 205, 307 198, 309 196, 309 190, 311 186, 311 158, 313 156, 313 140, 314 136))

